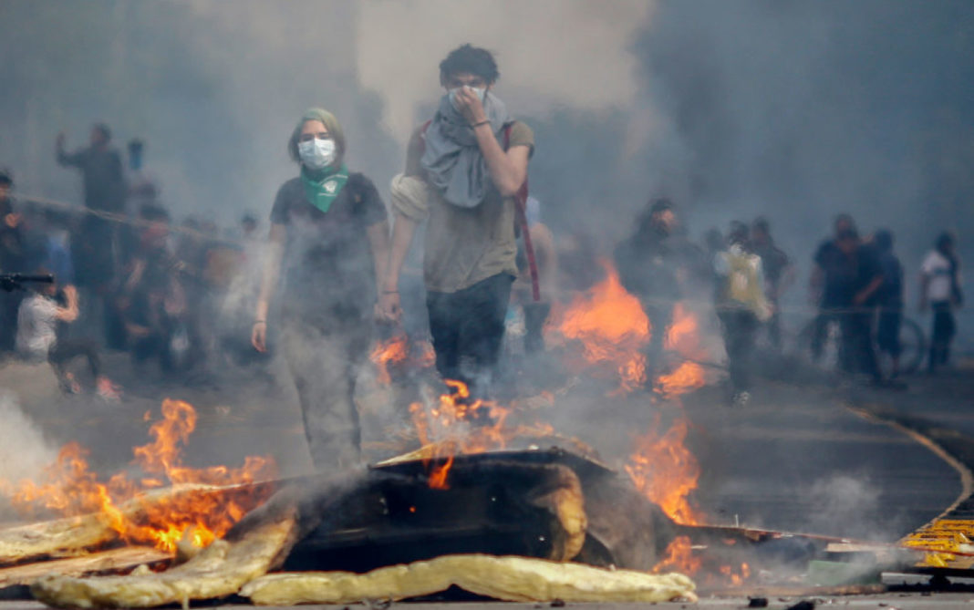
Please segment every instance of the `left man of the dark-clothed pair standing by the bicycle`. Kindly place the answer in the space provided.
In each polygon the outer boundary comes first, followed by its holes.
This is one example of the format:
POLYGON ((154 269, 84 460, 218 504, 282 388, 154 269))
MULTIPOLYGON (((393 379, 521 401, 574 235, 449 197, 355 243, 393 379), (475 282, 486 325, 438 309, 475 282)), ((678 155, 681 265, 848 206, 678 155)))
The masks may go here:
MULTIPOLYGON (((833 222, 833 236, 823 241, 815 250, 808 280, 808 300, 818 306, 811 337, 811 357, 818 362, 822 358, 829 324, 839 322, 838 308, 843 300, 843 273, 847 267, 846 256, 839 248, 839 236, 855 231, 852 216, 842 213, 833 222)), ((856 237, 858 240, 858 237, 856 237)))

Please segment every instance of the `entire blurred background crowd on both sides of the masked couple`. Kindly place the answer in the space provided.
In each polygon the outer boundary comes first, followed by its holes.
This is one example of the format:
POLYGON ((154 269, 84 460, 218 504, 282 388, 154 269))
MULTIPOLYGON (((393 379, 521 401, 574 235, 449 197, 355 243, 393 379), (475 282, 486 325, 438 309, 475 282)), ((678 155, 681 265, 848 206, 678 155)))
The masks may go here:
MULTIPOLYGON (((95 391, 112 395, 110 371, 99 358, 105 350, 128 353, 136 366, 158 366, 181 379, 206 374, 214 362, 246 365, 266 358, 249 341, 266 234, 259 231, 261 222, 253 215, 222 228, 196 216, 175 222, 144 157, 139 140, 130 141, 123 155, 102 124, 74 152, 58 136, 56 160, 80 172, 84 208, 19 200, 13 173, 0 172, 0 272, 55 278, 50 286, 0 293, 0 353, 51 362, 67 392, 77 392, 78 384, 66 364, 83 358, 95 391)), ((507 323, 516 319, 519 351, 531 355, 544 349, 552 303, 593 286, 604 270, 598 248, 584 234, 553 235, 534 197, 526 212, 541 298, 532 298, 520 239, 521 275, 507 323)), ((744 403, 759 338, 772 351, 785 343, 782 297, 795 284, 795 259, 776 245, 766 218, 731 223, 726 232, 712 229, 695 243, 680 216, 669 200, 647 204, 631 235, 615 248, 615 265, 654 328, 672 323, 674 304, 694 293, 688 286, 703 282, 712 288, 729 357, 731 401, 744 403)), ((812 263, 805 332, 812 360, 822 357, 838 328, 840 369, 896 387, 905 280, 892 233, 860 235, 854 220, 841 214, 812 263), (880 370, 880 358, 891 365, 880 370)), ((932 311, 924 362, 934 372, 950 360, 954 311, 963 301, 955 236, 937 237, 920 269, 918 308, 932 311)), ((407 330, 426 340, 429 326, 424 317, 418 320, 407 330)), ((654 332, 647 347, 650 385, 665 366, 664 336, 654 332)))

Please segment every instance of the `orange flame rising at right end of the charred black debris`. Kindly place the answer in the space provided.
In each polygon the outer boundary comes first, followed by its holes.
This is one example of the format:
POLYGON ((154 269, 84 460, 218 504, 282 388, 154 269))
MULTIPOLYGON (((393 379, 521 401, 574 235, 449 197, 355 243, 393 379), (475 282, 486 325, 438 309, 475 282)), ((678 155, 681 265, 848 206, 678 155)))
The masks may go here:
MULTIPOLYGON (((654 429, 658 425, 657 415, 654 429)), ((681 417, 661 436, 654 431, 638 438, 625 472, 636 488, 663 513, 678 523, 693 525, 700 522, 702 515, 693 509, 687 498, 696 489, 700 467, 684 445, 687 430, 687 420, 681 417)))

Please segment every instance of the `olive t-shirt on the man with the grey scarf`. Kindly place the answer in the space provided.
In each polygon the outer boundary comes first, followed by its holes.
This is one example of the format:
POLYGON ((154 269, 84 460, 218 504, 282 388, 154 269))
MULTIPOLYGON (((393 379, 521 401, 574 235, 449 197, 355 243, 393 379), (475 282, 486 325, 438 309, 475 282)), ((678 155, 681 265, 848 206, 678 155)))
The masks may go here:
MULTIPOLYGON (((535 148, 535 133, 524 123, 514 121, 507 145, 528 146, 530 155, 535 148)), ((419 129, 409 140, 406 175, 423 175, 423 150, 423 130, 419 129)), ((429 208, 425 211, 430 222, 423 261, 427 290, 456 292, 501 273, 517 275, 513 197, 502 197, 492 186, 479 206, 460 208, 444 201, 436 189, 430 188, 429 192, 429 208)))

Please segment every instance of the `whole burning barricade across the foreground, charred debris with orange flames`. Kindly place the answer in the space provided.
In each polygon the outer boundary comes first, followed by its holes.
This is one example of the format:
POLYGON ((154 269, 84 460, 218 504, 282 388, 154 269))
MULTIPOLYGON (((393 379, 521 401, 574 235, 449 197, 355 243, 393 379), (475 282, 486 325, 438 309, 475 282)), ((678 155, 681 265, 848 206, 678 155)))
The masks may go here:
MULTIPOLYGON (((0 584, 33 583, 56 606, 146 607, 231 594, 349 603, 454 586, 506 600, 658 601, 693 599, 690 577, 710 590, 802 582, 796 566, 833 557, 836 541, 703 524, 680 402, 705 381, 697 319, 675 308, 665 345, 679 362, 648 380, 653 329, 606 271, 549 331, 569 368, 608 380, 607 398, 652 389, 622 475, 543 421, 557 392, 502 404, 457 381, 438 396, 425 386, 408 409, 420 448, 340 477, 289 480, 266 458, 186 467, 180 449, 196 413, 167 400, 153 441, 134 449, 141 476, 102 480, 69 445, 47 480, 3 484, 19 508, 63 517, 0 531, 0 564, 11 566, 0 584)), ((372 353, 377 381, 393 386, 429 368, 428 356, 393 337, 372 353)))

